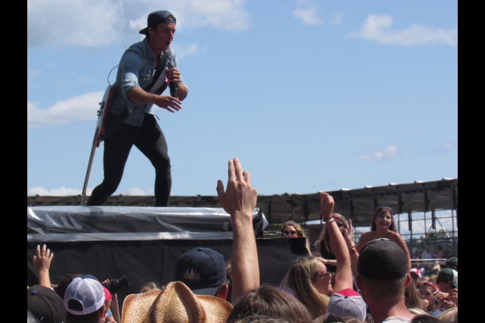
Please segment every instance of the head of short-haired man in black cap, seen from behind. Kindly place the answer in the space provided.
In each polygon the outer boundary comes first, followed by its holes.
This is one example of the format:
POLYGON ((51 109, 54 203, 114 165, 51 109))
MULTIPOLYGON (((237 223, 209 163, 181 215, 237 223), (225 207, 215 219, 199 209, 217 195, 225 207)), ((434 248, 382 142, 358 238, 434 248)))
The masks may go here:
POLYGON ((411 278, 406 253, 394 241, 380 238, 367 243, 359 255, 357 272, 357 285, 367 302, 404 301, 404 288, 411 278))

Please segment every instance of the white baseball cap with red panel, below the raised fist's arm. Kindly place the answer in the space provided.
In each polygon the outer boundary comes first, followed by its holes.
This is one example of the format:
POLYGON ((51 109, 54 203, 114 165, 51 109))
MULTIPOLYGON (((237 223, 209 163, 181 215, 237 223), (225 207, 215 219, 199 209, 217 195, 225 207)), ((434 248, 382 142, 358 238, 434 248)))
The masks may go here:
POLYGON ((367 305, 359 293, 351 288, 346 288, 332 294, 326 312, 340 317, 357 317, 364 321, 366 307, 367 305))

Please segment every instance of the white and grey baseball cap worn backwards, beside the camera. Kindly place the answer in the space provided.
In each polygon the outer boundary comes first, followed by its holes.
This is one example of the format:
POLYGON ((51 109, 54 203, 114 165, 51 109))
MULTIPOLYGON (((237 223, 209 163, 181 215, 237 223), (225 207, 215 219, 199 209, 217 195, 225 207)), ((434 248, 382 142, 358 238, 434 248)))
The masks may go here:
POLYGON ((105 302, 101 283, 91 275, 76 277, 66 289, 64 305, 74 315, 86 315, 99 310, 105 302))

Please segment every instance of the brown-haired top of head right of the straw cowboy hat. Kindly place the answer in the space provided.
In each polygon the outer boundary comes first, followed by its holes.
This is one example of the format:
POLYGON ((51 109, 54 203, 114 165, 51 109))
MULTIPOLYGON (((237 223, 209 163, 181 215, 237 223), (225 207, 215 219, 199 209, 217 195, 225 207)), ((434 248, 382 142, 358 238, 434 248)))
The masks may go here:
POLYGON ((302 303, 269 285, 263 285, 241 296, 234 304, 226 322, 234 323, 237 319, 254 314, 282 318, 289 322, 312 322, 310 313, 302 303))

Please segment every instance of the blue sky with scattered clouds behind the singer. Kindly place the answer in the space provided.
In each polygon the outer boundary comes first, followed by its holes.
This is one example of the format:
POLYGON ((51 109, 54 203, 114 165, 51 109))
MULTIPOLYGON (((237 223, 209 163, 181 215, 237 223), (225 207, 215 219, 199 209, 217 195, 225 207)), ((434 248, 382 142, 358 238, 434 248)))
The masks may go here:
MULTIPOLYGON (((456 178, 457 7, 28 0, 27 195, 81 192, 108 73, 160 9, 189 87, 181 111, 157 111, 172 195, 215 195, 234 156, 260 194, 456 178)), ((154 173, 133 148, 115 194, 152 195, 154 173)))

